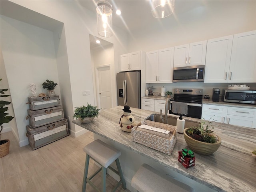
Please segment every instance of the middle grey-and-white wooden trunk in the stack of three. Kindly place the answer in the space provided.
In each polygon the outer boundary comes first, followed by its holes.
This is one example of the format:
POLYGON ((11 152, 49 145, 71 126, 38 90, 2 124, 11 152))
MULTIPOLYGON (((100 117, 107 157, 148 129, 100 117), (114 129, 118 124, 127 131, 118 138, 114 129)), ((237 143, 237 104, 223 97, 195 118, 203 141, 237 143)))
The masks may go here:
POLYGON ((33 127, 40 127, 64 119, 63 107, 52 107, 32 111, 28 109, 29 124, 33 127))

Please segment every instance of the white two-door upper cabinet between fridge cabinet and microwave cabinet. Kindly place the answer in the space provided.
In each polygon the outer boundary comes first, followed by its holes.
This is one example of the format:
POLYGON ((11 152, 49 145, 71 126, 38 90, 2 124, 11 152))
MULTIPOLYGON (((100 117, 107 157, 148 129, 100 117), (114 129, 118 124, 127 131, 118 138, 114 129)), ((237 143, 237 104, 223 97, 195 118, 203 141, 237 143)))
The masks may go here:
POLYGON ((172 83, 174 47, 146 53, 146 83, 172 83))

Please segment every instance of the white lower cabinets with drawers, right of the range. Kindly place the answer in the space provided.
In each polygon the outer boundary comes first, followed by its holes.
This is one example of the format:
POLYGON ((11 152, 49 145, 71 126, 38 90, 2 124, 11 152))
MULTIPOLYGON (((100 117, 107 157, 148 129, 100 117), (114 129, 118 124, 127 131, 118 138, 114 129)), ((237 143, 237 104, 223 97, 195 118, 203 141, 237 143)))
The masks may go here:
POLYGON ((202 118, 236 126, 256 128, 256 109, 203 104, 202 118))

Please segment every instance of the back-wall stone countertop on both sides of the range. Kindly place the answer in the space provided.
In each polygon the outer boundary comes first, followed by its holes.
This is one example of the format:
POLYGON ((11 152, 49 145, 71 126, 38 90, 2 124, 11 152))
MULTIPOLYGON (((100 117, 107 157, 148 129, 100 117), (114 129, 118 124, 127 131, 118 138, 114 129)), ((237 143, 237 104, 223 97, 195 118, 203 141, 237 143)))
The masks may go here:
MULTIPOLYGON (((149 95, 149 96, 142 96, 142 98, 166 100, 168 97, 149 95)), ((231 102, 223 102, 221 100, 219 102, 213 102, 211 99, 203 99, 203 104, 256 109, 256 104, 231 103, 231 102)))

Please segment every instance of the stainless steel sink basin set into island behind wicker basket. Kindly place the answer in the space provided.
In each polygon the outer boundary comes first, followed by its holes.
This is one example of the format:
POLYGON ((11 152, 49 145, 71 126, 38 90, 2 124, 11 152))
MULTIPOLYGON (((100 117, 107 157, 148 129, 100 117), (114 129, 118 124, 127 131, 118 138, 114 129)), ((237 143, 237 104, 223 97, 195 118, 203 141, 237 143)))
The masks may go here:
MULTIPOLYGON (((164 115, 162 115, 162 117, 164 118, 164 115)), ((160 114, 156 114, 156 113, 153 113, 150 116, 148 116, 146 120, 163 123, 163 121, 161 120, 160 114)), ((167 124, 176 126, 176 122, 177 122, 177 117, 167 116, 167 124)), ((185 128, 198 126, 198 125, 199 125, 199 122, 185 119, 185 128)))

